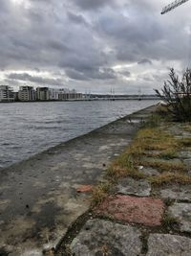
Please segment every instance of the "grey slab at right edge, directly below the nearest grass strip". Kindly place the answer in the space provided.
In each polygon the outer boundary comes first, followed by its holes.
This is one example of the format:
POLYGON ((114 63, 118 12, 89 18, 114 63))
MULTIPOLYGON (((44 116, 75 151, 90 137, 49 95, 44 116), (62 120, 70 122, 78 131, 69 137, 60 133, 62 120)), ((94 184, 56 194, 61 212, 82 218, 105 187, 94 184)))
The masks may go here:
POLYGON ((170 198, 177 200, 188 200, 191 201, 191 184, 190 185, 172 185, 168 188, 160 190, 161 198, 170 198))

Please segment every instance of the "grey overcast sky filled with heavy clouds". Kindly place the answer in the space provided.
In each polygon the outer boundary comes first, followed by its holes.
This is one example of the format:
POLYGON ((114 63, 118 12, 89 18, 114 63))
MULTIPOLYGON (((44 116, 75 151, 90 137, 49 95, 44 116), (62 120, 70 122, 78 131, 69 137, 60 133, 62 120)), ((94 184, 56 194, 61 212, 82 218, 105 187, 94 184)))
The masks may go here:
POLYGON ((191 58, 191 1, 0 0, 0 81, 153 93, 191 58))

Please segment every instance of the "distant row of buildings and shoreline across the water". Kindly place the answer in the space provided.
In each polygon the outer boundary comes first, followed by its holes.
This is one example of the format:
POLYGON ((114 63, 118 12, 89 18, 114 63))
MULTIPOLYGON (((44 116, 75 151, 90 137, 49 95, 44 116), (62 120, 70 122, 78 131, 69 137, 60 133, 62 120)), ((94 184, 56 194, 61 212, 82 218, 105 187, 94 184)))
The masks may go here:
POLYGON ((75 89, 50 88, 22 85, 17 91, 9 85, 0 84, 0 103, 14 102, 48 102, 48 101, 97 101, 97 100, 158 100, 156 94, 145 94, 138 90, 138 94, 116 94, 114 89, 110 93, 92 94, 77 92, 75 89))

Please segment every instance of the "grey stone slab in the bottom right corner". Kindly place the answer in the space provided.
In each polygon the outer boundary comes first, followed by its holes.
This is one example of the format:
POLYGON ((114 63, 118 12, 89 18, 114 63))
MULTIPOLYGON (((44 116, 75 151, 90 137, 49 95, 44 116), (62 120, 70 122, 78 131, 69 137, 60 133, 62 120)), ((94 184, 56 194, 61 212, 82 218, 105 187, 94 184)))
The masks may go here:
POLYGON ((152 234, 146 256, 190 256, 191 239, 181 236, 152 234))

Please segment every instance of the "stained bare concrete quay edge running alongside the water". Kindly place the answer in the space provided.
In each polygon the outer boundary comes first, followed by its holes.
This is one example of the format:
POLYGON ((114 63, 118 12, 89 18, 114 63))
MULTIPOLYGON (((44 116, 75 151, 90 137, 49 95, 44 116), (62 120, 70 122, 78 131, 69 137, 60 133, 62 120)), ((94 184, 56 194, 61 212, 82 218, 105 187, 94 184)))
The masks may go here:
POLYGON ((152 109, 138 111, 1 170, 2 253, 37 256, 43 248, 54 246, 90 206, 90 194, 79 194, 76 189, 96 184, 152 109))

